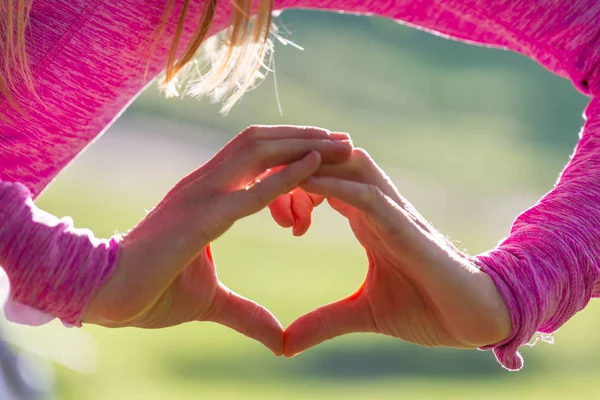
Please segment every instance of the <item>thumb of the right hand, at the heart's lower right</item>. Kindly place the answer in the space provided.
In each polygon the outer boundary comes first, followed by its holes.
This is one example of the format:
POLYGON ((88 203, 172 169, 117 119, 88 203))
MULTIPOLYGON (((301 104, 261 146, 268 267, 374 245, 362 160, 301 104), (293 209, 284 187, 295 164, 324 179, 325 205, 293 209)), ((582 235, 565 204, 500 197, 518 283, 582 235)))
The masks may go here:
POLYGON ((293 357, 326 340, 356 332, 376 332, 368 302, 349 297, 317 308, 285 330, 283 355, 293 357))

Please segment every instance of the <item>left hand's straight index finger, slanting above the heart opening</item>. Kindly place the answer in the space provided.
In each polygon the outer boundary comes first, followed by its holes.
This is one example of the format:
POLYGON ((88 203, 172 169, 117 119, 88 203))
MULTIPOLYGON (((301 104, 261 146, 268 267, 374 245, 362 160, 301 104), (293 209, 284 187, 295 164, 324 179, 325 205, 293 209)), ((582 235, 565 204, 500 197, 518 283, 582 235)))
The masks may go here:
POLYGON ((223 207, 228 207, 224 210, 225 215, 230 215, 237 220, 262 210, 277 197, 289 193, 306 180, 320 164, 320 154, 311 151, 302 160, 287 165, 251 188, 230 193, 226 197, 227 201, 220 203, 223 207))

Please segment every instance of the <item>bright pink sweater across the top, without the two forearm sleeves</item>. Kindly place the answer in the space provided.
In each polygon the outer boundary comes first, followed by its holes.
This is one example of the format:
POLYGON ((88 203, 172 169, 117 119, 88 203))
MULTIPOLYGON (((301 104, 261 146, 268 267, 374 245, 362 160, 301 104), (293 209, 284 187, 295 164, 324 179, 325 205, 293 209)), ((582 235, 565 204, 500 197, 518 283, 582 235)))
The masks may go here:
MULTIPOLYGON (((98 137, 162 69, 175 18, 149 63, 148 41, 164 0, 34 0, 27 31, 41 103, 22 99, 26 116, 0 100, 0 180, 21 182, 34 197, 98 137)), ((182 1, 178 0, 175 13, 182 1)), ((181 48, 201 12, 192 1, 181 48)), ((215 33, 226 27, 229 2, 219 1, 215 33)), ((598 1, 564 0, 277 0, 276 9, 371 13, 449 37, 509 48, 570 78, 584 93, 598 90, 598 1)))

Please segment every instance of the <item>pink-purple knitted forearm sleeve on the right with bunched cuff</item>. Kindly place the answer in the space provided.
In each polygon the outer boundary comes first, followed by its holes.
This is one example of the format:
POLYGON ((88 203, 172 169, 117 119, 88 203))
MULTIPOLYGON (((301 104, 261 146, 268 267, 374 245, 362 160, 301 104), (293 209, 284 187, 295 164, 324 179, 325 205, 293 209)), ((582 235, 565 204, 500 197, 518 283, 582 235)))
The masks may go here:
POLYGON ((521 345, 554 333, 600 295, 600 99, 586 119, 555 188, 516 219, 508 238, 474 259, 511 313, 510 336, 484 348, 509 370, 523 366, 521 345))

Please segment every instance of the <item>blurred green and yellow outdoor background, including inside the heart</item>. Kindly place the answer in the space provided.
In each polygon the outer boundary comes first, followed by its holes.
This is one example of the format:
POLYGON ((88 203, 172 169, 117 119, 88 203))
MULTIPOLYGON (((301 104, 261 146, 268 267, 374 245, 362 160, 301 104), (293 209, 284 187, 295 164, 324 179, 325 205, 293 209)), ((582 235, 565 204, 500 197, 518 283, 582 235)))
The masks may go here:
MULTIPOLYGON (((156 87, 39 199, 108 237, 133 227, 182 176, 251 124, 308 124, 352 134, 400 191, 471 254, 493 247, 553 187, 587 99, 520 55, 442 39, 374 17, 286 11, 274 77, 227 116, 156 87)), ((351 293, 366 258, 346 222, 321 206, 303 238, 267 212, 216 241, 221 280, 284 325, 351 293)), ((140 276, 140 279, 144 279, 140 276)), ((294 358, 209 323, 161 331, 6 325, 56 399, 592 399, 600 383, 600 310, 524 348, 509 373, 493 354, 428 349, 375 335, 336 339, 294 358), (53 361, 48 361, 53 360, 53 361)))

